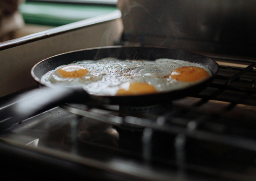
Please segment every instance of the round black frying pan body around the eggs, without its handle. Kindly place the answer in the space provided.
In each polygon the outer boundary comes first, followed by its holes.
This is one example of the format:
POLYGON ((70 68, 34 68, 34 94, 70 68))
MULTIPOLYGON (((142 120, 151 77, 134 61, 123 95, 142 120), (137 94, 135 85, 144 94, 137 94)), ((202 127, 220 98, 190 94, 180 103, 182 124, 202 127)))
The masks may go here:
MULTIPOLYGON (((80 61, 84 59, 102 59, 106 57, 115 57, 118 59, 146 59, 155 60, 159 58, 170 58, 180 59, 190 62, 200 63, 210 71, 212 76, 197 85, 193 85, 187 88, 178 89, 174 91, 153 93, 147 95, 137 96, 90 96, 92 99, 102 100, 103 103, 118 104, 118 105, 148 105, 155 104, 157 102, 166 102, 172 99, 178 99, 183 96, 191 95, 202 88, 206 87, 207 84, 212 80, 213 76, 218 71, 218 65, 212 59, 208 57, 194 54, 187 51, 175 50, 170 48, 155 48, 155 47, 124 47, 124 46, 113 46, 103 48, 90 48, 79 51, 72 51, 54 57, 45 59, 37 63, 31 71, 32 77, 41 83, 41 77, 48 71, 57 68, 60 65, 66 65, 74 61, 80 61)), ((84 95, 87 94, 84 91, 84 95)))

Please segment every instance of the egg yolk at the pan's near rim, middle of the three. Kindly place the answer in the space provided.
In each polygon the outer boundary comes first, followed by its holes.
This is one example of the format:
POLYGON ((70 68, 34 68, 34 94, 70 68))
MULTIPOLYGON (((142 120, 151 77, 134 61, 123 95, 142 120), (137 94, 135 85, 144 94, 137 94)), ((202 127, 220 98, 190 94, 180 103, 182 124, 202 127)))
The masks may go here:
POLYGON ((130 83, 127 88, 121 88, 116 95, 137 95, 157 92, 154 86, 143 82, 130 83))

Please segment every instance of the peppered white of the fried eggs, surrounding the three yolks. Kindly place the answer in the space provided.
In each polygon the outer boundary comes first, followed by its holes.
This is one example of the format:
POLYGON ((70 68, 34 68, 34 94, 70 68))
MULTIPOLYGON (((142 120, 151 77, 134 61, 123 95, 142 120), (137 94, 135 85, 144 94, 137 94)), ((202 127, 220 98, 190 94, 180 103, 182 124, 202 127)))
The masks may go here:
POLYGON ((64 78, 57 70, 67 65, 61 65, 42 76, 41 82, 50 87, 58 84, 68 87, 78 86, 90 94, 113 96, 125 82, 146 82, 153 85, 157 92, 186 88, 197 83, 198 81, 181 82, 170 77, 173 70, 183 66, 204 68, 209 75, 212 74, 203 65, 175 59, 150 61, 108 57, 100 60, 83 60, 69 65, 83 66, 89 73, 78 78, 64 78))

